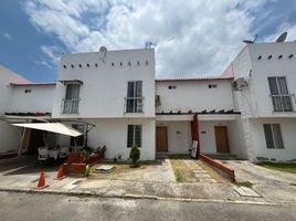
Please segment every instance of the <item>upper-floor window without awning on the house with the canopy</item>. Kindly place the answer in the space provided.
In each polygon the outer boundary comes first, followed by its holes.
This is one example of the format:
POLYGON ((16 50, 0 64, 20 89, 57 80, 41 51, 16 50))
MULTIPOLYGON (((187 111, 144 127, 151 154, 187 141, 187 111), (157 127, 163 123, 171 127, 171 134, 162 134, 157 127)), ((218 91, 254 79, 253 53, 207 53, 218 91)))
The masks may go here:
POLYGON ((141 81, 127 83, 127 98, 126 112, 127 113, 141 113, 142 112, 142 83, 141 81))

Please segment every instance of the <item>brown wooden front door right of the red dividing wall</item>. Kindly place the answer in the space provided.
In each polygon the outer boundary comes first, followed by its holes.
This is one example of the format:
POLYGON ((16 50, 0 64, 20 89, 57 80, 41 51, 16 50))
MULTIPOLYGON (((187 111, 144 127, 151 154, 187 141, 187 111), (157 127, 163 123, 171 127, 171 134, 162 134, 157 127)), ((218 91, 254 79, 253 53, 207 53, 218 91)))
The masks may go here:
POLYGON ((215 126, 214 134, 215 134, 216 152, 230 152, 228 127, 215 126))

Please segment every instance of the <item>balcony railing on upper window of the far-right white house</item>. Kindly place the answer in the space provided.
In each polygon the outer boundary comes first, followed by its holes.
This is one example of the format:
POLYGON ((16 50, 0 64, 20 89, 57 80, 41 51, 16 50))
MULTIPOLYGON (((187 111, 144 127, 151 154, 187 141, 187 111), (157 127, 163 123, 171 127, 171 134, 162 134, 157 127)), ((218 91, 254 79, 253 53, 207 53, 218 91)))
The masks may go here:
POLYGON ((271 95, 274 112, 293 112, 292 94, 271 95))

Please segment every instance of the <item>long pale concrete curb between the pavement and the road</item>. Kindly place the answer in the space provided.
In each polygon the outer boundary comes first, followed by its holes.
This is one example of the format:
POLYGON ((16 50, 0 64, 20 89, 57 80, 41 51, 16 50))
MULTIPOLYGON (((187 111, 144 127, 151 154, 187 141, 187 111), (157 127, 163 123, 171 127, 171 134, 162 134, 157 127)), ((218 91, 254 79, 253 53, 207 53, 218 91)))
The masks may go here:
MULTIPOLYGON (((19 192, 31 194, 60 194, 68 197, 101 197, 101 198, 117 198, 117 199, 147 199, 162 201, 179 201, 179 202, 216 202, 216 203, 234 203, 234 204, 257 204, 257 206, 278 206, 275 202, 258 202, 258 201, 240 201, 240 200, 219 200, 219 199, 191 199, 191 198, 173 198, 173 197, 157 197, 148 194, 102 194, 94 191, 59 191, 59 190, 34 190, 34 189, 6 189, 1 188, 0 192, 19 192)), ((289 202, 296 203, 296 202, 289 202)))

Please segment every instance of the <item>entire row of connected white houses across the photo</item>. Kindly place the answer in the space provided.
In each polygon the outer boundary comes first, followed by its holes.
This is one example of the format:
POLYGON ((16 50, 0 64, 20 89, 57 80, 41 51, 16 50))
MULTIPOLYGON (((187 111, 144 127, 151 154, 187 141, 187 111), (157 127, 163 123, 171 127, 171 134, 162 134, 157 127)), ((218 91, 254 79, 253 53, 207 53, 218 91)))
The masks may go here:
MULTIPOLYGON (((106 145, 107 158, 127 159, 133 145, 141 148, 145 160, 162 152, 189 154, 192 140, 198 140, 203 154, 292 160, 295 51, 295 42, 247 44, 221 75, 172 80, 155 78, 154 49, 103 46, 94 53, 63 54, 56 83, 1 74, 6 96, 0 98, 0 114, 7 113, 2 118, 10 120, 32 122, 39 120, 32 116, 43 115, 68 124, 84 136, 52 136, 55 144, 106 145), (15 116, 20 114, 24 116, 15 116)), ((20 137, 19 129, 2 124, 14 131, 7 139, 20 137)), ((30 140, 43 135, 32 130, 23 136, 23 149, 30 150, 30 140)))

